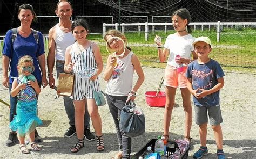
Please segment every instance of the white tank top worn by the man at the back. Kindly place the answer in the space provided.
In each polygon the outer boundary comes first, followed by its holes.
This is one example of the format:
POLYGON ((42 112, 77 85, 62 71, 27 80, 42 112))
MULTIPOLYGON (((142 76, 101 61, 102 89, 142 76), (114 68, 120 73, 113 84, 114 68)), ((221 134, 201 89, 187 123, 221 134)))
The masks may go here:
POLYGON ((59 23, 56 25, 55 30, 55 57, 57 60, 65 60, 65 51, 66 48, 72 45, 75 42, 75 38, 72 35, 72 32, 65 33, 60 30, 59 23))

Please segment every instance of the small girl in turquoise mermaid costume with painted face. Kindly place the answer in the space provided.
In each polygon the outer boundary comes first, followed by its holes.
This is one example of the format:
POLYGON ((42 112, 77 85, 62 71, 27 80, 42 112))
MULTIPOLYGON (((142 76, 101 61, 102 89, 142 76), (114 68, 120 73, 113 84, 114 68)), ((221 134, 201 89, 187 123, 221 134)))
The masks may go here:
POLYGON ((41 147, 34 142, 35 129, 42 124, 42 121, 36 115, 37 95, 41 92, 41 89, 36 77, 31 74, 35 70, 31 56, 25 55, 21 57, 18 61, 17 69, 20 76, 14 79, 11 88, 11 96, 17 96, 17 115, 10 122, 9 127, 18 134, 21 153, 28 154, 30 151, 24 144, 26 134, 29 134, 30 147, 36 151, 41 150, 41 147))

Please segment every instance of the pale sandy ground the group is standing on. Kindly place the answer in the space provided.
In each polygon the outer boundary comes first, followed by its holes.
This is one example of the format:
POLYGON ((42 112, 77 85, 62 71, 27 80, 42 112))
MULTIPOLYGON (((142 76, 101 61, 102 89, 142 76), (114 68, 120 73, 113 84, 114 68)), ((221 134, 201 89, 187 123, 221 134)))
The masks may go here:
MULTIPOLYGON (((146 117, 146 132, 142 136, 132 139, 132 154, 136 153, 150 139, 163 134, 163 108, 149 107, 145 103, 145 91, 158 88, 161 75, 164 69, 143 67, 145 82, 137 92, 136 104, 143 108, 146 117)), ((221 109, 224 122, 223 139, 224 151, 227 158, 256 158, 255 139, 255 74, 239 74, 225 72, 225 86, 220 91, 221 109)), ((137 77, 137 76, 136 76, 137 77)), ((0 69, 2 79, 2 69, 0 69)), ((100 76, 100 84, 103 90, 106 82, 100 76)), ((161 90, 164 90, 162 88, 161 90)), ((72 154, 70 147, 76 142, 76 138, 63 138, 66 129, 69 127, 68 118, 64 110, 62 97, 55 99, 56 93, 49 89, 42 89, 39 95, 39 117, 43 120, 43 126, 37 128, 43 142, 43 150, 32 151, 29 155, 21 155, 18 151, 18 144, 6 147, 5 141, 9 134, 9 109, 0 103, 0 158, 111 158, 118 150, 118 141, 113 124, 113 119, 106 106, 99 107, 103 121, 103 134, 106 149, 102 153, 96 150, 96 142, 85 141, 85 147, 79 153, 72 154)), ((9 92, 0 85, 0 99, 9 103, 9 92)), ((91 125, 91 130, 94 132, 91 125)), ((182 139, 184 132, 184 111, 180 91, 176 93, 176 107, 173 110, 170 126, 170 138, 182 139)), ((198 126, 193 124, 191 129, 192 147, 189 158, 192 158, 194 151, 199 148, 198 126)), ((204 158, 215 158, 216 146, 213 131, 208 126, 207 146, 209 154, 204 158)))

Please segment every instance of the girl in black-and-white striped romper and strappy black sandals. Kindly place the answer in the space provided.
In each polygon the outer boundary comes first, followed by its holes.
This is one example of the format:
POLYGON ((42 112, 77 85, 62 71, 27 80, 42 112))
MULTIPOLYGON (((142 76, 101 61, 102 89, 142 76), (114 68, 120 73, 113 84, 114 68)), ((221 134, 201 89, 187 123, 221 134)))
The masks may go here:
POLYGON ((102 56, 100 55, 97 44, 86 39, 88 26, 84 19, 74 21, 71 30, 76 42, 66 49, 64 71, 65 73, 72 72, 75 74, 72 97, 75 105, 75 125, 78 141, 70 150, 72 153, 76 153, 80 148, 84 147, 85 102, 87 103, 88 112, 95 129, 97 150, 104 150, 102 120, 95 99, 93 98, 93 90, 100 90, 98 75, 103 69, 102 56), (96 68, 96 71, 91 77, 85 78, 78 76, 79 71, 84 71, 92 67, 96 68))

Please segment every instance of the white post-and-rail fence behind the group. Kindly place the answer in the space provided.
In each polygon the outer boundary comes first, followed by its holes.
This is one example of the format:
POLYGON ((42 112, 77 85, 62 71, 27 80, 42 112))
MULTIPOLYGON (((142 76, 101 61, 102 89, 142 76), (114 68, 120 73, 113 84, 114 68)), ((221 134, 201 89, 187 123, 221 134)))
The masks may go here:
MULTIPOLYGON (((221 31, 221 27, 223 25, 226 25, 227 28, 230 25, 231 29, 233 29, 233 25, 242 25, 244 27, 249 27, 250 25, 256 25, 256 22, 200 22, 200 23, 190 23, 190 26, 194 25, 194 30, 196 30, 196 25, 200 25, 201 26, 201 31, 204 31, 204 26, 207 26, 209 31, 211 28, 211 25, 215 25, 217 26, 217 42, 219 42, 220 40, 220 31, 221 31)), ((106 26, 114 26, 116 30, 118 30, 118 23, 115 24, 106 24, 103 23, 103 37, 106 33, 106 26)), ((125 24, 122 23, 120 24, 120 26, 122 27, 122 32, 125 32, 125 26, 138 26, 138 32, 140 32, 140 28, 141 26, 145 26, 145 41, 147 41, 147 39, 149 38, 149 26, 152 26, 152 33, 154 34, 154 26, 165 26, 165 33, 167 32, 167 26, 172 26, 172 23, 129 23, 129 24, 125 24)))

